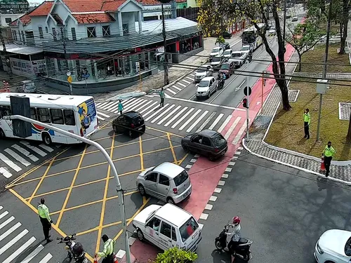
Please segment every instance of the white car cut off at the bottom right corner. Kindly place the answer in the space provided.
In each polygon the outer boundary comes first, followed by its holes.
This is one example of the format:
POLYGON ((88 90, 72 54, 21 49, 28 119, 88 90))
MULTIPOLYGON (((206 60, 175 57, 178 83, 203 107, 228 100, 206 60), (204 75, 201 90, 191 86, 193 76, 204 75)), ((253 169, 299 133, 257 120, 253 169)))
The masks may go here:
POLYGON ((318 263, 343 263, 351 259, 351 232, 325 231, 316 243, 314 257, 318 263))

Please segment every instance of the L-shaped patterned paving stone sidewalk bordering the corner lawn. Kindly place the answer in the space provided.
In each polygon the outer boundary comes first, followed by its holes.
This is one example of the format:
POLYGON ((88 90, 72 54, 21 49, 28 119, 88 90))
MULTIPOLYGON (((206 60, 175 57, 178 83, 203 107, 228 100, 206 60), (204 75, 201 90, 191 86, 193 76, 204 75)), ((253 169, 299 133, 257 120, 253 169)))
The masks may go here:
MULTIPOLYGON (((290 61, 298 61, 298 55, 296 52, 293 53, 290 61)), ((291 75, 294 70, 295 66, 286 66, 286 74, 291 75)), ((293 90, 289 90, 289 97, 291 98, 290 93, 293 93, 293 90)), ((250 128, 250 140, 249 142, 244 141, 244 147, 262 158, 277 161, 287 166, 301 168, 301 170, 306 170, 317 175, 324 175, 324 173, 319 170, 321 166, 320 161, 314 161, 312 159, 306 159, 298 155, 272 149, 263 143, 269 123, 274 117, 277 107, 279 107, 279 104, 281 103, 281 97, 282 95, 279 87, 275 85, 269 97, 267 97, 265 104, 263 104, 263 113, 260 116, 257 116, 255 121, 253 121, 250 128)), ((329 177, 333 177, 334 179, 343 182, 351 182, 351 166, 332 165, 329 177)))

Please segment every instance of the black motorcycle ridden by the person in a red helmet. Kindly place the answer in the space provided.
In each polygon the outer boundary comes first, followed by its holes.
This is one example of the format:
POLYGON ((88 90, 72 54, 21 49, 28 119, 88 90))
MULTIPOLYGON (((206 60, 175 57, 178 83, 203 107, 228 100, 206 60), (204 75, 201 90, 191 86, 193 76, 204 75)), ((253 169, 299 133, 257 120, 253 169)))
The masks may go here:
MULTIPOLYGON (((215 245, 218 250, 224 250, 227 248, 227 235, 226 233, 229 231, 230 225, 225 225, 223 231, 220 232, 219 236, 215 239, 215 245)), ((248 262, 252 258, 252 253, 250 250, 251 244, 253 242, 248 238, 240 238, 239 245, 237 245, 233 251, 230 251, 234 257, 240 257, 244 261, 248 262)))

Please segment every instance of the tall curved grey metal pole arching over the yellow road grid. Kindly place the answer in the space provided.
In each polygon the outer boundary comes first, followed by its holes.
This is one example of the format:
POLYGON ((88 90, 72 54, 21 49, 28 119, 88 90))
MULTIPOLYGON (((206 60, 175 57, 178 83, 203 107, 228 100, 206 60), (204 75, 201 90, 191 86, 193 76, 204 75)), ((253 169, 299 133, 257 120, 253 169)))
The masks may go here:
POLYGON ((119 202, 119 210, 121 213, 121 222, 123 224, 123 230, 124 230, 124 242, 126 245, 126 262, 131 263, 131 250, 129 248, 129 241, 128 241, 128 232, 127 232, 127 220, 126 220, 126 213, 125 213, 125 208, 124 208, 124 197, 123 197, 123 189, 121 186, 121 182, 119 182, 119 177, 117 173, 116 167, 114 167, 114 163, 112 159, 110 158, 109 154, 107 154, 107 151, 100 145, 98 142, 94 142, 92 140, 87 139, 86 137, 81 137, 79 135, 75 135, 74 133, 69 133, 66 130, 62 130, 60 128, 48 125, 47 123, 41 123, 40 121, 34 121, 33 119, 29 119, 25 116, 20 116, 20 115, 12 115, 12 116, 4 116, 3 119, 6 120, 13 120, 13 119, 18 119, 21 121, 27 121, 32 124, 37 124, 38 126, 42 126, 44 128, 48 128, 50 130, 54 130, 55 132, 61 133, 63 135, 66 135, 68 137, 72 137, 74 139, 80 140, 82 142, 85 142, 86 144, 90 144, 98 148, 103 156, 105 156, 107 163, 111 166, 112 173, 114 175, 114 178, 116 179, 116 187, 117 187, 117 194, 118 194, 118 202, 119 202))

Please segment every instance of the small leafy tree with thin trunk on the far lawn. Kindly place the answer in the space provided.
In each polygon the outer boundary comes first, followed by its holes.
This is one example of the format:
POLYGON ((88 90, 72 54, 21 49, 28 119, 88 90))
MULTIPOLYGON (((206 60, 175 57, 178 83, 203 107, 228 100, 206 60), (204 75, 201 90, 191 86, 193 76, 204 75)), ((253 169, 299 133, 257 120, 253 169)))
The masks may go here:
POLYGON ((288 25, 289 33, 286 34, 285 40, 298 53, 298 71, 301 71, 301 57, 304 53, 313 48, 326 34, 325 30, 318 29, 310 20, 306 20, 305 24, 299 24, 295 28, 288 25))

